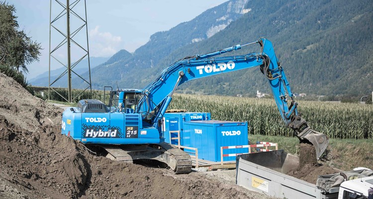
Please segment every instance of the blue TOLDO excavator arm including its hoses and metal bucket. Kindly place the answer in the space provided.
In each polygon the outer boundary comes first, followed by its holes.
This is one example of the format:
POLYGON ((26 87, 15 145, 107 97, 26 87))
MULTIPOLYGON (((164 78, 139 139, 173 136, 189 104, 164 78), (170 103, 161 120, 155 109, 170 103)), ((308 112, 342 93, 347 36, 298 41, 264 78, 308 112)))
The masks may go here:
POLYGON ((154 127, 160 128, 163 114, 172 100, 175 89, 183 83, 259 66, 269 81, 273 97, 284 123, 294 130, 301 142, 310 142, 316 149, 319 158, 328 146, 325 134, 311 129, 307 122, 298 114, 297 102, 293 98, 289 83, 278 61, 271 41, 259 40, 244 45, 235 45, 216 52, 196 55, 179 60, 165 68, 160 75, 143 91, 135 112, 141 113, 143 119, 149 118, 154 127), (215 57, 227 52, 239 50, 242 47, 260 44, 261 52, 246 55, 215 57), (288 102, 288 100, 291 100, 288 102))

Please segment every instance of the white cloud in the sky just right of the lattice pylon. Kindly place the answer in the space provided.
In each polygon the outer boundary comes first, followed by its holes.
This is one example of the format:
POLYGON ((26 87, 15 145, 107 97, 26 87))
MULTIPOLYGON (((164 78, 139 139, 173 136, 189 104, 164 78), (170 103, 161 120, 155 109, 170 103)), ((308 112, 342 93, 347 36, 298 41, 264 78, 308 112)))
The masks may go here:
POLYGON ((90 55, 92 57, 109 57, 120 50, 122 38, 110 32, 100 32, 96 25, 88 33, 90 37, 90 55))

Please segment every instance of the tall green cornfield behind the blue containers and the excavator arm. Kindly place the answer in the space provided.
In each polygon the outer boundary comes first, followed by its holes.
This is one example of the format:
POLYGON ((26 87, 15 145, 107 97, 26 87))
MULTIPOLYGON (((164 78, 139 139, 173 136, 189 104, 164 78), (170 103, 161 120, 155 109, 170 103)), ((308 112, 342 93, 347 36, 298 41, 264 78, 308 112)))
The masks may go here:
MULTIPOLYGON (((329 138, 372 139, 373 106, 299 101, 298 112, 312 129, 329 138)), ((292 136, 272 99, 174 95, 169 109, 211 112, 212 119, 247 121, 249 134, 292 136)))

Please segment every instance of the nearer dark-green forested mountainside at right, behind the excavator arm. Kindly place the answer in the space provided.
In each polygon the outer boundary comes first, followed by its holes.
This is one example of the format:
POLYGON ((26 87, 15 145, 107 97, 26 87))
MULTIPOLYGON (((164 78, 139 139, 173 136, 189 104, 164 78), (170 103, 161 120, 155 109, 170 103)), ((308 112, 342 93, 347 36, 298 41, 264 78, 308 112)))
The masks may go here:
MULTIPOLYGON (((181 57, 183 51, 210 52, 263 36, 274 43, 294 93, 357 96, 373 90, 373 6, 369 1, 253 0, 246 6, 252 11, 209 40, 180 49, 165 62, 181 57)), ((254 95, 257 90, 270 93, 258 68, 196 80, 187 86, 227 95, 254 95)))

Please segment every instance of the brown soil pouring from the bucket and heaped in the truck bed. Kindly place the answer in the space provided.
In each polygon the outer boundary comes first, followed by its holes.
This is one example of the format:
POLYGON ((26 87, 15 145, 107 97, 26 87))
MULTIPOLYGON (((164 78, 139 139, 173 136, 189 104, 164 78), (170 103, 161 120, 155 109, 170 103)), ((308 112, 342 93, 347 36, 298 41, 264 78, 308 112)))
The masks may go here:
POLYGON ((301 143, 299 147, 299 166, 289 171, 287 175, 316 184, 318 176, 337 173, 333 168, 317 163, 313 145, 301 143))

